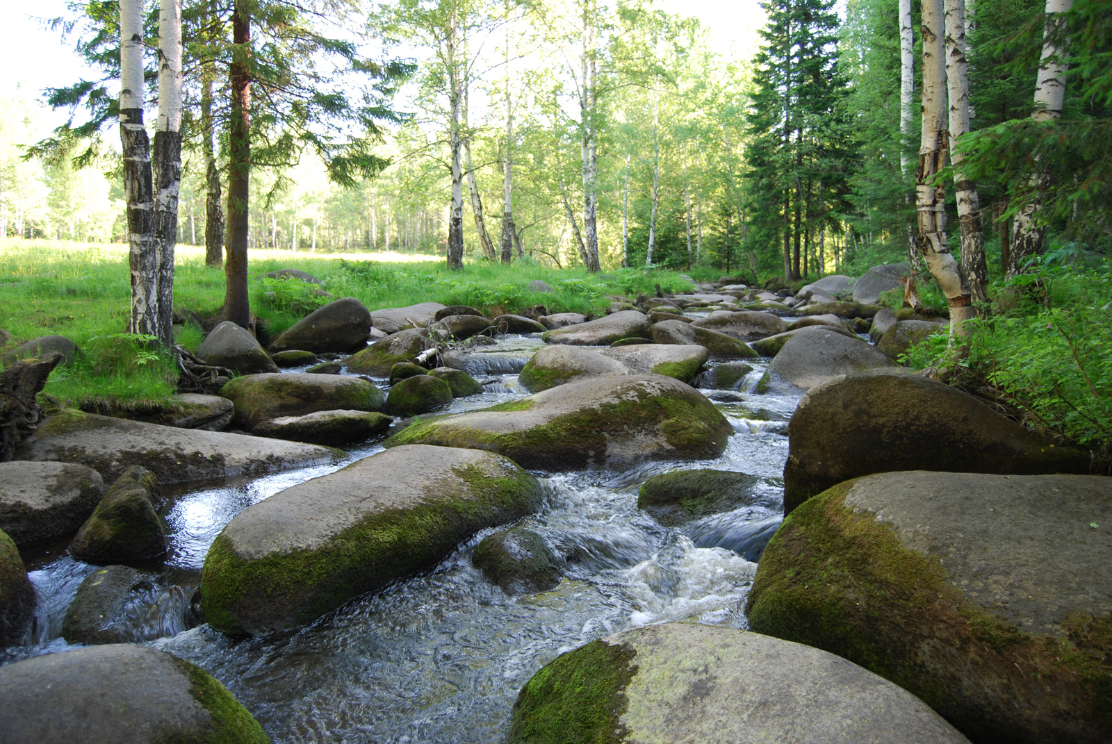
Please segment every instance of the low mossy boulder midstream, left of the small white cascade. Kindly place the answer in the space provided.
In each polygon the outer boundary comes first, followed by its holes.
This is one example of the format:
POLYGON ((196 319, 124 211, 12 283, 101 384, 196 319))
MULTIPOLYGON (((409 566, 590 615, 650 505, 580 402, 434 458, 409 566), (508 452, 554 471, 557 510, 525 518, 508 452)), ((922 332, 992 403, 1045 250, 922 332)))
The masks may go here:
POLYGON ((728 470, 678 470, 654 475, 637 492, 637 507, 674 527, 709 514, 753 504, 759 478, 728 470))

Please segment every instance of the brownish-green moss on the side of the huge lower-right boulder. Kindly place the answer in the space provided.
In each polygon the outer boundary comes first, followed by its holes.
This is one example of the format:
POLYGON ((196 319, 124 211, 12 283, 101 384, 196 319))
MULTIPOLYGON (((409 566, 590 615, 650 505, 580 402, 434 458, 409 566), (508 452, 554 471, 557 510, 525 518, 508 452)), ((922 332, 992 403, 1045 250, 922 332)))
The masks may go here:
POLYGON ((1075 618, 1068 638, 1015 628, 890 525, 845 507, 853 483, 785 519, 749 594, 751 627, 891 679, 974 742, 1110 741, 1110 619, 1075 618))

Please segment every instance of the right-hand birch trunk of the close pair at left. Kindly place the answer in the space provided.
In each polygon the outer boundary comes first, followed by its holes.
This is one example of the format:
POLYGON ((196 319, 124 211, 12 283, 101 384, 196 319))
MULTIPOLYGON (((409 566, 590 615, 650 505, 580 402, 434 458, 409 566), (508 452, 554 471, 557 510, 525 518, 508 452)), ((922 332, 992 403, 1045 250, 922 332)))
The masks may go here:
POLYGON ((181 4, 160 0, 158 10, 158 120, 155 125, 155 222, 158 254, 158 340, 173 348, 173 249, 181 192, 181 4))

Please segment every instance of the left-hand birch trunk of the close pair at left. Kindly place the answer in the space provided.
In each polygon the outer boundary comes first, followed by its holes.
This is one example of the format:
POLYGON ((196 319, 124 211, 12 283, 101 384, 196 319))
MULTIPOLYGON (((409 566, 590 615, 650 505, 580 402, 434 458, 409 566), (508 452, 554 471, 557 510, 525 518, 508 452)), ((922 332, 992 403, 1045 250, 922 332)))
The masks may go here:
POLYGON ((128 210, 131 313, 128 330, 160 337, 158 248, 150 140, 143 126, 142 2, 120 1, 120 142, 128 210))

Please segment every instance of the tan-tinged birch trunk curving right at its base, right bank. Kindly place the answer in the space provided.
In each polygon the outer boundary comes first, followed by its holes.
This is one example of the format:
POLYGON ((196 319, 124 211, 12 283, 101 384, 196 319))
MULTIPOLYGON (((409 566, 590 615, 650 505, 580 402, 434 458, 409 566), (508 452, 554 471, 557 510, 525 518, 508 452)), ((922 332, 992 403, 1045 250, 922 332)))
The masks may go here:
POLYGON ((923 0, 923 128, 915 170, 919 249, 950 305, 950 330, 965 336, 964 321, 973 317, 972 292, 946 246, 945 191, 934 183, 946 163, 946 44, 943 0, 923 0))

